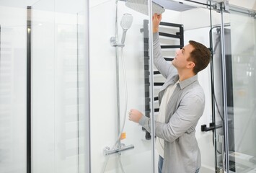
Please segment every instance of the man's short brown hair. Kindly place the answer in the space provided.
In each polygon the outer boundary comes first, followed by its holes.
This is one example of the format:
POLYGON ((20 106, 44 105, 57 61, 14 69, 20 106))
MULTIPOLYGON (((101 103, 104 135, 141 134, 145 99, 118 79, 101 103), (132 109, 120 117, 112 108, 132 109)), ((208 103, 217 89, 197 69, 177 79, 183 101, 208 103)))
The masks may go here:
POLYGON ((194 50, 190 53, 190 57, 187 58, 187 60, 195 63, 193 72, 198 74, 199 71, 202 71, 208 66, 208 63, 210 63, 211 52, 201 43, 193 40, 190 40, 189 43, 193 46, 194 50))

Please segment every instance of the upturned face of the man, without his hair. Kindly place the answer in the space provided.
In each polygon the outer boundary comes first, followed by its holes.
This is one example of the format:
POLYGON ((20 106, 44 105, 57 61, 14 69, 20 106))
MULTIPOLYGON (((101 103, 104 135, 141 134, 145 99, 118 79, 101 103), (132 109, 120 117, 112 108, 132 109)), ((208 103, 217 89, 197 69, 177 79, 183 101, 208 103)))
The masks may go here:
POLYGON ((185 45, 182 49, 176 51, 176 56, 172 61, 172 65, 177 69, 186 68, 189 63, 192 61, 187 61, 187 58, 190 57, 190 53, 194 50, 193 46, 188 44, 185 45))

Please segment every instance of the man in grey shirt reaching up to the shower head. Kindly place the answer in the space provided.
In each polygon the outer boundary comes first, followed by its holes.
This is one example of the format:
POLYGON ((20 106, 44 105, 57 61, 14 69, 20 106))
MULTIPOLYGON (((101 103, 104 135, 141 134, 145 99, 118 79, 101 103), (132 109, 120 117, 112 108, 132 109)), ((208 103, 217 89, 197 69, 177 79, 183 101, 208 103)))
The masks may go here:
MULTIPOLYGON (((159 117, 155 121, 159 173, 195 173, 199 172, 201 164, 195 127, 205 107, 198 72, 208 66, 210 51, 206 46, 190 41, 177 50, 172 63, 168 63, 162 57, 159 44, 161 19, 161 14, 154 14, 152 22, 154 65, 167 79, 159 92, 159 117)), ((129 120, 151 131, 151 119, 138 110, 130 110, 129 120)))

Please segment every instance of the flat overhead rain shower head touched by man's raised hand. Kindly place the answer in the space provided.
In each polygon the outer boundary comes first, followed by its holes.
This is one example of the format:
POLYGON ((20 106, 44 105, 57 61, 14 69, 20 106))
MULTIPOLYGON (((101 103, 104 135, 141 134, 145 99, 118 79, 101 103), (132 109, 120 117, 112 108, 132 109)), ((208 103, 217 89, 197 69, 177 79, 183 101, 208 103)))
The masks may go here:
MULTIPOLYGON (((136 12, 149 15, 147 0, 127 0, 125 1, 125 6, 135 10, 136 12)), ((164 11, 165 9, 163 6, 152 1, 152 14, 162 14, 164 11)))

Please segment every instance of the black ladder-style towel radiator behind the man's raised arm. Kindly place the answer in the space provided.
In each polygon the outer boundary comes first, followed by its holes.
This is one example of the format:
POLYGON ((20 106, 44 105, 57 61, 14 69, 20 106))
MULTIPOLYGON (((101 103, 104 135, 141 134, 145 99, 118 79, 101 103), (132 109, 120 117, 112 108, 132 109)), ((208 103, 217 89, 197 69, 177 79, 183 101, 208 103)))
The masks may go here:
MULTIPOLYGON (((183 25, 180 24, 175 24, 175 23, 169 23, 169 22, 160 22, 159 26, 159 35, 160 37, 160 43, 162 38, 173 38, 172 41, 175 43, 178 43, 176 45, 161 45, 161 48, 163 50, 169 50, 169 49, 177 49, 177 48, 183 48, 184 46, 184 30, 183 30, 183 25), (163 28, 164 31, 168 30, 167 32, 162 32, 161 28, 163 28), (169 33, 172 31, 172 29, 178 30, 178 32, 175 33, 169 33)), ((150 117, 150 71, 149 71, 149 20, 144 19, 144 27, 141 28, 141 32, 144 33, 144 86, 145 86, 145 115, 146 117, 150 117)), ((164 57, 166 61, 172 61, 173 58, 167 58, 164 57)), ((159 71, 154 71, 153 72, 155 76, 160 74, 159 71)), ((164 84, 163 82, 154 82, 154 86, 159 87, 164 84)), ((156 89, 156 87, 154 89, 156 89)), ((154 102, 158 101, 158 97, 154 96, 154 102)), ((154 113, 159 112, 159 108, 156 107, 154 108, 154 113)), ((143 130, 145 130, 143 128, 143 130)), ((151 135, 149 132, 146 131, 145 135, 146 139, 151 139, 151 135)))

